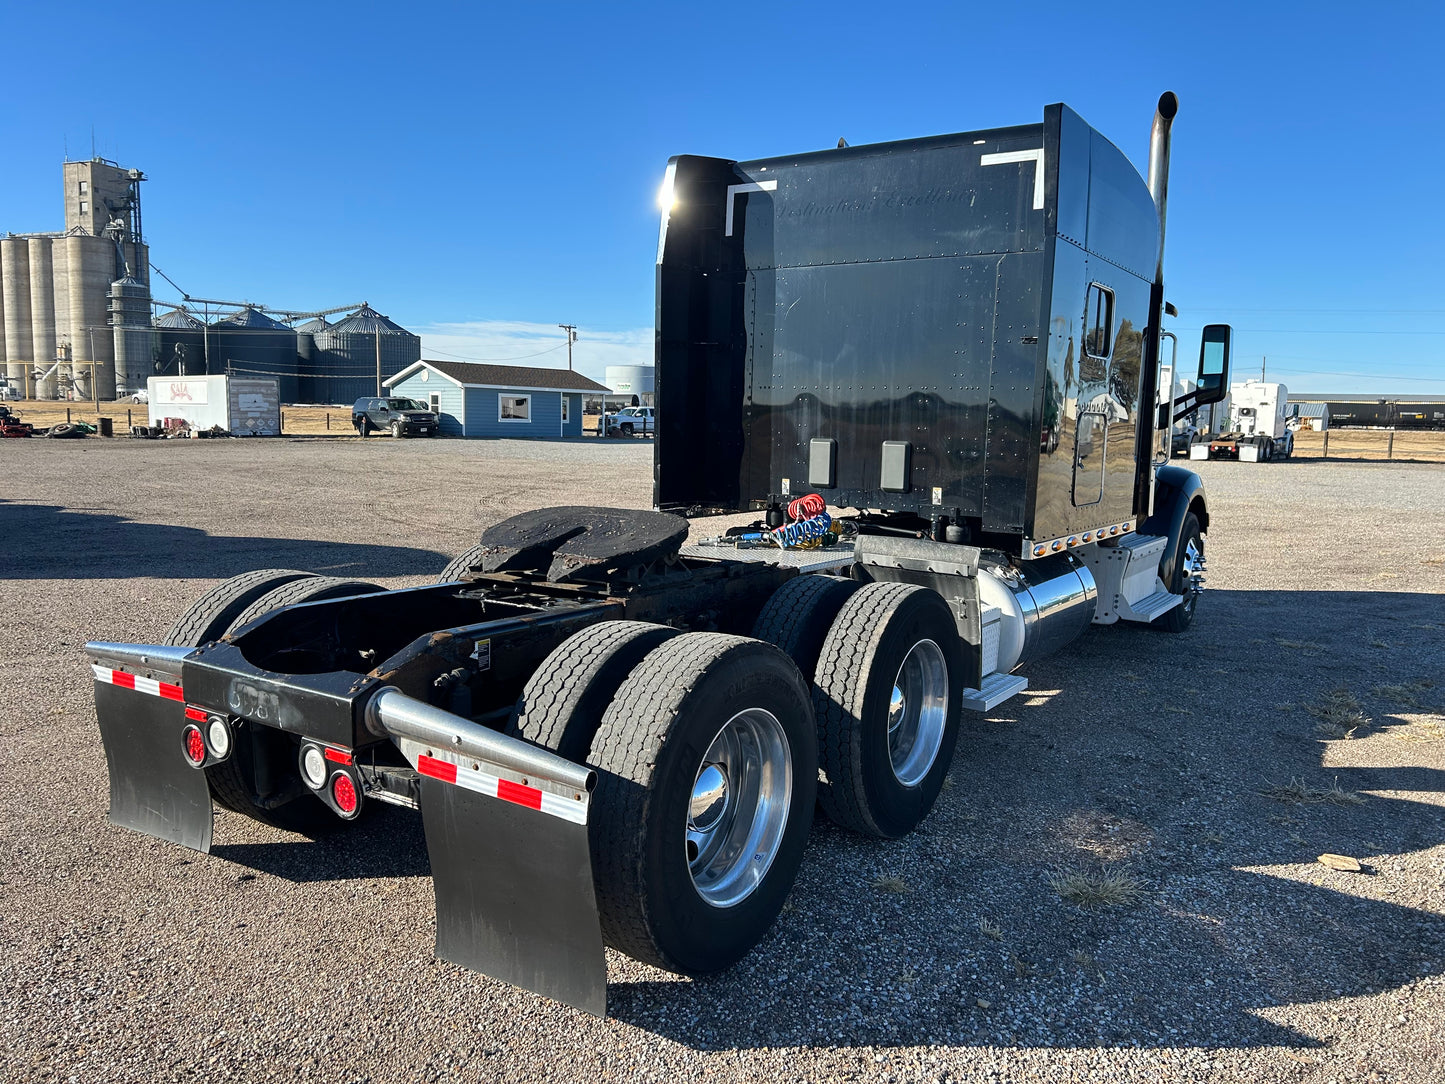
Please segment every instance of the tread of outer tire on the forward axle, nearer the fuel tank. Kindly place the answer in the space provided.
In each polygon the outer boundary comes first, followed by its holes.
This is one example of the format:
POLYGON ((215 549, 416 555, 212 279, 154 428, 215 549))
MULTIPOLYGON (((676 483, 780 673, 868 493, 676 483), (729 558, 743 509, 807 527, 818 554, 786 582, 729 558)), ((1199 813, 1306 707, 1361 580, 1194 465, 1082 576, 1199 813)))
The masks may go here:
POLYGON ((828 632, 814 678, 814 714, 818 717, 818 763, 828 783, 818 783, 818 804, 828 820, 864 835, 881 835, 863 804, 863 763, 853 756, 854 730, 860 726, 867 689, 867 661, 883 635, 887 616, 915 591, 915 584, 866 584, 828 632))

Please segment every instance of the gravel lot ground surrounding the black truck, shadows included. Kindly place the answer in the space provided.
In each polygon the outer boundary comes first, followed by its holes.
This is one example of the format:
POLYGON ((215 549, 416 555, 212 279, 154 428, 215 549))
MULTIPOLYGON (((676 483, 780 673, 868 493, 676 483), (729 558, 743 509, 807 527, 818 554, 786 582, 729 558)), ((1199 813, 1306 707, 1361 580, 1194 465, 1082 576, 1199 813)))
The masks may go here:
POLYGON ((413 814, 316 841, 221 814, 211 856, 110 827, 81 645, 156 640, 250 568, 406 585, 514 512, 644 507, 650 444, 0 451, 3 1080, 1445 1075, 1439 467, 1196 464, 1189 633, 1100 629, 1035 665, 965 718, 919 833, 816 825, 741 965, 688 981, 611 955, 595 1020, 432 957, 413 814), (1353 737, 1311 711, 1334 689, 1368 720, 1353 737), (1261 793, 1292 780, 1363 801, 1261 793), (1051 887, 1101 870, 1137 899, 1051 887))

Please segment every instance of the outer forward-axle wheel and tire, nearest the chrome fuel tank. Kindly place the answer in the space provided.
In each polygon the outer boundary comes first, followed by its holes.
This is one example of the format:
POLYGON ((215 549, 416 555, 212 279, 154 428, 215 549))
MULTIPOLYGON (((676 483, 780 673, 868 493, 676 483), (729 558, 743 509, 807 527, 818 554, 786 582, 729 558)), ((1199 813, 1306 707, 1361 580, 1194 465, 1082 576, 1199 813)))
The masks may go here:
POLYGON ((958 743, 964 652, 948 603, 866 584, 838 611, 814 676, 828 818, 894 840, 933 808, 958 743))

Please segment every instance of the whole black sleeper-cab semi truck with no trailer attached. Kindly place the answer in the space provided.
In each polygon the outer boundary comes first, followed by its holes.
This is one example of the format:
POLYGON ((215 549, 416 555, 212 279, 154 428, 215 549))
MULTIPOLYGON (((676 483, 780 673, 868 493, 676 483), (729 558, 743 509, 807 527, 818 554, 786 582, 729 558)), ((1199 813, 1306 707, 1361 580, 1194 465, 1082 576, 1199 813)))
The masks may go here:
POLYGON ((1065 106, 672 159, 656 510, 516 516, 429 587, 250 572, 163 645, 87 645, 111 821, 205 851, 215 802, 419 809, 438 955, 594 1013, 604 945, 737 961, 815 805, 902 837, 1032 659, 1192 621, 1209 513, 1169 432, 1222 396, 1230 328, 1160 406, 1175 108, 1147 185, 1065 106))

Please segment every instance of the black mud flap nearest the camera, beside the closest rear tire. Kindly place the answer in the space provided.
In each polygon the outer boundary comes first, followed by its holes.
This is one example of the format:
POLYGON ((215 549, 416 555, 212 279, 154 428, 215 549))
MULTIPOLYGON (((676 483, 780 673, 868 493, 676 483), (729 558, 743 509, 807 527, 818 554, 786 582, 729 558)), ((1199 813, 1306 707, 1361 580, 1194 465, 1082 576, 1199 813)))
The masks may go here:
POLYGON ((436 955, 607 1015, 585 818, 578 822, 422 778, 436 955))

